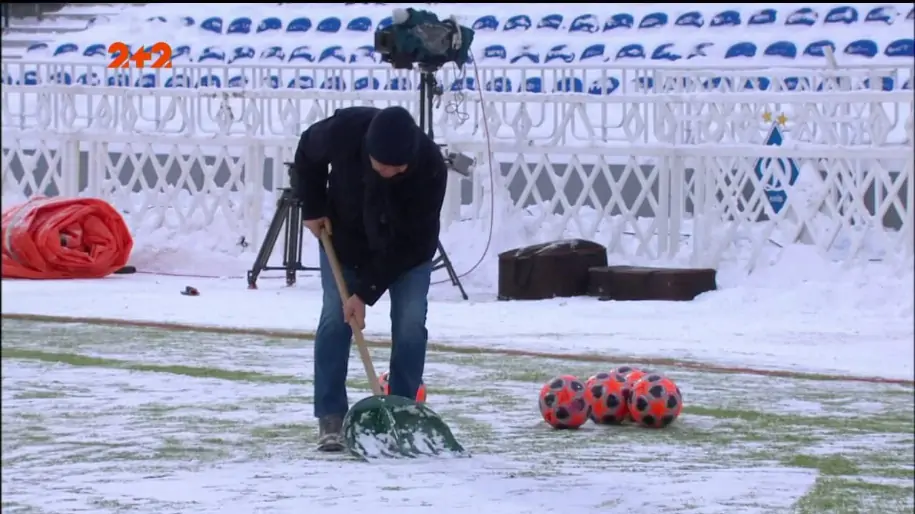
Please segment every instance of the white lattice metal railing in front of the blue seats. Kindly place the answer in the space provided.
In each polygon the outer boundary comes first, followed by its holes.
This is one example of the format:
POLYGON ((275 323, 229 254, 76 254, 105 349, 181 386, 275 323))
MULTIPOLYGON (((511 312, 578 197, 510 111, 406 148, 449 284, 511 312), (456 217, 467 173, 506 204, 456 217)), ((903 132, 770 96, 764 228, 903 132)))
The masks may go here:
MULTIPOLYGON (((218 226, 249 241, 272 205, 265 187, 284 182, 282 162, 309 123, 344 105, 416 107, 414 93, 383 91, 47 85, 2 96, 4 199, 98 196, 138 237, 218 226)), ((452 179, 446 223, 495 216, 532 240, 578 235, 624 258, 694 265, 740 253, 753 266, 773 239, 850 261, 912 257, 908 92, 490 93, 464 95, 464 116, 458 96, 444 96, 435 126, 478 165, 469 196, 452 179), (772 114, 787 118, 782 146, 764 144, 772 114), (788 161, 797 183, 771 164, 788 161), (787 195, 779 210, 766 200, 772 184, 787 195)))

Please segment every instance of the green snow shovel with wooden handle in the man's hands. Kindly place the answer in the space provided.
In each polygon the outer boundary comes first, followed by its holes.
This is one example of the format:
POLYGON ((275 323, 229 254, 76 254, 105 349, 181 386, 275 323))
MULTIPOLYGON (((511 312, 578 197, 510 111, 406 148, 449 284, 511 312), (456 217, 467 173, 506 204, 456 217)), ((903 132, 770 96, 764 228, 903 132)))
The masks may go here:
MULTIPOLYGON (((340 298, 345 301, 349 298, 349 291, 333 243, 325 231, 321 232, 321 245, 330 262, 340 298)), ((347 451, 364 460, 379 457, 467 456, 451 429, 432 409, 410 398, 384 394, 362 330, 356 326, 352 328, 373 396, 356 402, 343 418, 343 439, 347 451)))

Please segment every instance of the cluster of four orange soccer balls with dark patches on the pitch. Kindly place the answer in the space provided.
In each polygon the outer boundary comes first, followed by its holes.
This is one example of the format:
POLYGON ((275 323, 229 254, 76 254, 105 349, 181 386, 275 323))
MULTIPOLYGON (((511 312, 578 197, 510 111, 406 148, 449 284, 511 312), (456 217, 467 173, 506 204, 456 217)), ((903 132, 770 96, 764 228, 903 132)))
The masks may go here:
POLYGON ((663 428, 683 409, 683 396, 673 380, 630 366, 598 373, 586 382, 561 375, 540 390, 540 413, 553 428, 578 428, 588 419, 599 425, 632 420, 643 427, 663 428))

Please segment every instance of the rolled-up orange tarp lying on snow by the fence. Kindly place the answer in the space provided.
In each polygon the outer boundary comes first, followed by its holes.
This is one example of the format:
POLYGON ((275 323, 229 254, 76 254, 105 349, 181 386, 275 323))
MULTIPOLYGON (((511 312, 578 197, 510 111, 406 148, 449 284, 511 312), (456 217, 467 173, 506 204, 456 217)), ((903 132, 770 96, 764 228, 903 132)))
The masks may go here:
POLYGON ((3 209, 3 278, 101 278, 127 264, 133 238, 98 198, 32 198, 3 209))

